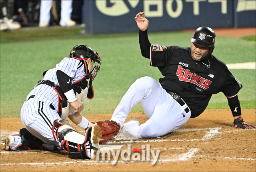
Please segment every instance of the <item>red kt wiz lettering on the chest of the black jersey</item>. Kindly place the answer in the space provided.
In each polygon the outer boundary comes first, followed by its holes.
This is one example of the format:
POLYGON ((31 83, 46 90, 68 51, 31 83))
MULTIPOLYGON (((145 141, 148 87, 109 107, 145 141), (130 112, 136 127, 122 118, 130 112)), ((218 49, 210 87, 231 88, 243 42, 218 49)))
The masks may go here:
POLYGON ((207 90, 212 81, 202 78, 197 74, 191 73, 188 69, 183 69, 182 66, 178 65, 178 70, 176 75, 178 76, 180 81, 191 82, 192 84, 196 84, 197 86, 207 90))

